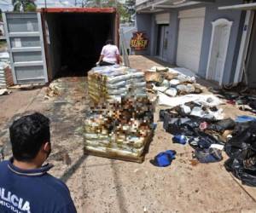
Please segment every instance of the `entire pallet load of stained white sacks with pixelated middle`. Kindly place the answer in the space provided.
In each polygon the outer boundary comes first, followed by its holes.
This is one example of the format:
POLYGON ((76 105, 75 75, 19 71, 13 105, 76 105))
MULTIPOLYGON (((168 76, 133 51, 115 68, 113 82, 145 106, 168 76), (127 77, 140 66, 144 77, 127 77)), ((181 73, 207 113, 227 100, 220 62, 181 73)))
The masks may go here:
POLYGON ((88 80, 85 153, 142 163, 154 122, 143 72, 102 66, 90 71, 88 80))

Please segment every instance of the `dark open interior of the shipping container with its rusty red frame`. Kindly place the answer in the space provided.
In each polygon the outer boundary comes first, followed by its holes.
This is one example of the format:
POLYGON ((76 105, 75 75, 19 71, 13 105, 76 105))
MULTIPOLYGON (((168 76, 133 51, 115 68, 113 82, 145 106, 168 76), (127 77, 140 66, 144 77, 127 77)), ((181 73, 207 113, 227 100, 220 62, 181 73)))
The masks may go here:
POLYGON ((40 13, 49 80, 61 75, 63 69, 88 72, 107 38, 119 46, 116 9, 40 9, 40 13))

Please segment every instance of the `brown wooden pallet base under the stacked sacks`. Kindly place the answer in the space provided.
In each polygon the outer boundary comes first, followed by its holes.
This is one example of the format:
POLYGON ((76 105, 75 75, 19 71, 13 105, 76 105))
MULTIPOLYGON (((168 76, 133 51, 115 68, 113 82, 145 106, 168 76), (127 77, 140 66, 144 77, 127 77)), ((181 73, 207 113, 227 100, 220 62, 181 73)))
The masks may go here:
POLYGON ((130 162, 135 162, 135 163, 142 164, 144 159, 145 159, 145 155, 148 153, 149 145, 150 145, 150 143, 153 139, 153 136, 154 136, 154 132, 152 131, 151 134, 148 135, 148 139, 145 143, 143 154, 140 157, 124 156, 124 155, 121 155, 119 153, 115 153, 115 152, 111 152, 111 151, 108 151, 108 153, 102 153, 102 152, 98 152, 98 151, 91 151, 91 150, 86 149, 86 147, 84 147, 84 154, 93 155, 93 156, 102 157, 102 158, 125 160, 125 161, 130 161, 130 162))

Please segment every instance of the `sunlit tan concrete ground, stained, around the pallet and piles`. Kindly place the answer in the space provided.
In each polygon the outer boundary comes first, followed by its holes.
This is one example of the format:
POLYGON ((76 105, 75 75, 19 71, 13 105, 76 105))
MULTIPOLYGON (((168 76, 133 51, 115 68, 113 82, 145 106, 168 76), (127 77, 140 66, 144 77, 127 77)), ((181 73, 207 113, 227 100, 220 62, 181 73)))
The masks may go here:
MULTIPOLYGON (((160 61, 131 56, 131 66, 148 69, 160 61)), ((164 64, 166 66, 166 64, 164 64)), ((79 213, 85 212, 256 212, 256 191, 242 186, 224 169, 224 161, 192 164, 192 149, 172 143, 158 122, 143 164, 87 156, 83 153, 81 128, 88 107, 86 78, 55 80, 60 95, 46 99, 47 87, 13 89, 0 96, 0 145, 10 156, 8 127, 27 112, 42 112, 51 119, 53 151, 51 174, 67 183, 79 213), (149 163, 157 153, 177 151, 167 168, 149 163)), ((226 117, 244 114, 233 106, 222 106, 226 117)), ((247 113, 250 114, 250 113, 247 113)), ((224 157, 226 158, 226 156, 224 157)))

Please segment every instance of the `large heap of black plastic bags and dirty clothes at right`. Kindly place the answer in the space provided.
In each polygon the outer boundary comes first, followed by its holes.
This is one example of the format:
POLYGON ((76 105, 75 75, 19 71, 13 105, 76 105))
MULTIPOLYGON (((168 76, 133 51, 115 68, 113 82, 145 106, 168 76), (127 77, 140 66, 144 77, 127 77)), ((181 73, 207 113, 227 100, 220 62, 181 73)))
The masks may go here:
POLYGON ((193 158, 200 163, 221 161, 225 151, 230 157, 224 163, 226 170, 243 184, 256 187, 256 118, 224 118, 217 98, 175 106, 160 110, 160 121, 173 135, 173 143, 189 144, 194 148, 193 158))

